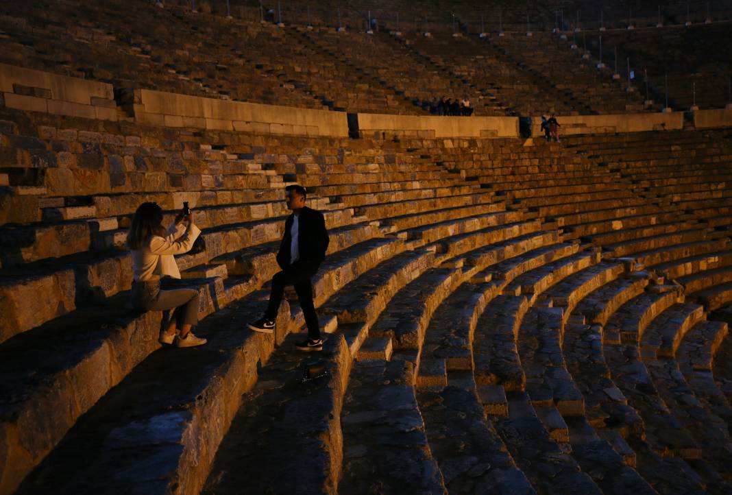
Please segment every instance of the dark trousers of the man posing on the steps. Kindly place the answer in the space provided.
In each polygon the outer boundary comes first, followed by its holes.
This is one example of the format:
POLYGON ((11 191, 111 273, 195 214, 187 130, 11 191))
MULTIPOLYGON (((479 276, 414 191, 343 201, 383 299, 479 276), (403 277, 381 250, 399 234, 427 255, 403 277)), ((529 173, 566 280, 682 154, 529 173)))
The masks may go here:
POLYGON ((320 337, 320 325, 318 324, 318 315, 315 314, 315 305, 313 305, 313 282, 312 278, 318 267, 308 267, 299 261, 295 261, 289 267, 277 272, 272 277, 272 291, 269 294, 269 305, 265 317, 272 321, 277 319, 277 310, 282 302, 285 286, 294 286, 297 298, 300 301, 302 314, 305 316, 305 324, 307 325, 307 337, 318 339, 320 337))

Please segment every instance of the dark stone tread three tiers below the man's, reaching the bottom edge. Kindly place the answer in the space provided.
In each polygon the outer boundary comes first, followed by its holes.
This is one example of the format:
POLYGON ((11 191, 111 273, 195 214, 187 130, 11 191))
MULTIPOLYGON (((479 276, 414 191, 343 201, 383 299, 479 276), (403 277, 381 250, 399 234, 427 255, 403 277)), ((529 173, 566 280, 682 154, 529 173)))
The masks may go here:
POLYGON ((550 438, 526 393, 510 392, 508 405, 509 417, 497 419, 496 430, 538 493, 602 493, 567 451, 550 438))

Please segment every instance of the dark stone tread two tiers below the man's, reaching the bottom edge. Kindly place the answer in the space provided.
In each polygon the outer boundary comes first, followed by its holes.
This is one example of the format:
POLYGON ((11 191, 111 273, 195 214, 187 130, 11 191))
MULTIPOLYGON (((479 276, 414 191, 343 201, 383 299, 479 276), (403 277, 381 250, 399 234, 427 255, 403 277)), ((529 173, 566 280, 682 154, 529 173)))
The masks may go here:
POLYGON ((449 493, 536 493, 486 417, 474 384, 420 390, 417 401, 449 493))

